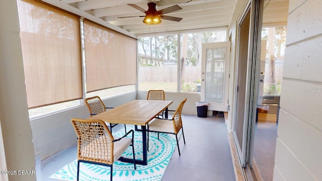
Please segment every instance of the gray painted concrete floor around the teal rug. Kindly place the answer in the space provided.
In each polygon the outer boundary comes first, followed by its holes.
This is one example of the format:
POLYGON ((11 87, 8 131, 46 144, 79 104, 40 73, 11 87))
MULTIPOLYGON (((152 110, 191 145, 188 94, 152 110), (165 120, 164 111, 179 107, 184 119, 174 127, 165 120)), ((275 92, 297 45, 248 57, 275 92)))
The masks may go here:
MULTIPOLYGON (((181 137, 181 156, 176 148, 162 180, 235 180, 224 119, 196 115, 183 115, 182 119, 186 145, 181 137)), ((113 132, 122 128, 117 125, 113 132)), ((76 149, 73 145, 41 161, 42 180, 56 180, 48 177, 76 159, 76 149)))

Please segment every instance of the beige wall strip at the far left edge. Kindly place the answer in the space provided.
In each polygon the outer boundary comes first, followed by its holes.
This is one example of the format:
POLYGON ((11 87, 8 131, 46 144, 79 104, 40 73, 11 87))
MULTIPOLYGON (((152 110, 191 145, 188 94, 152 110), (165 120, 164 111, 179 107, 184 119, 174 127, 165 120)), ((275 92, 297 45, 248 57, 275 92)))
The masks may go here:
MULTIPOLYGON (((16 1, 0 1, 0 19, 0 120, 7 170, 35 170, 16 1)), ((9 175, 9 180, 35 179, 9 175)))

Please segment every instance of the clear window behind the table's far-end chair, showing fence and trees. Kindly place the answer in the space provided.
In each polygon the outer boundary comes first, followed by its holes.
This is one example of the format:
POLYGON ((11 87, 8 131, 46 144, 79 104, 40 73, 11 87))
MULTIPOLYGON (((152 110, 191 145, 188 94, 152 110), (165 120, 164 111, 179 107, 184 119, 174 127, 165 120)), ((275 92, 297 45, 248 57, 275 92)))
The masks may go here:
POLYGON ((177 92, 177 35, 138 38, 138 63, 138 90, 177 92))

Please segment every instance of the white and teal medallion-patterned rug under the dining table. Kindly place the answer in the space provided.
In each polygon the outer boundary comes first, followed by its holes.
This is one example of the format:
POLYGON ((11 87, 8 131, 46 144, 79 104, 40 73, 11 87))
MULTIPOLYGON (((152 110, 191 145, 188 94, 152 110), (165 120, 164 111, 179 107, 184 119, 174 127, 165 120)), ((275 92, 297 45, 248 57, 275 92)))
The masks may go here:
MULTIPOLYGON (((127 128, 127 130, 129 128, 127 128)), ((134 130, 134 127, 131 127, 130 129, 134 130)), ((113 133, 113 136, 120 137, 123 134, 124 130, 120 130, 116 133, 113 133)), ((150 133, 149 151, 147 152, 148 164, 136 164, 135 170, 133 163, 116 161, 113 163, 113 180, 161 180, 167 169, 176 145, 177 142, 175 135, 160 133, 158 140, 156 133, 150 133)), ((141 132, 134 132, 134 150, 135 158, 142 159, 141 132)), ((123 153, 123 157, 133 158, 131 147, 129 147, 123 153)), ((108 166, 80 163, 79 167, 79 180, 110 180, 110 167, 108 166)), ((76 180, 76 175, 77 160, 74 160, 49 176, 49 178, 60 180, 76 180)))

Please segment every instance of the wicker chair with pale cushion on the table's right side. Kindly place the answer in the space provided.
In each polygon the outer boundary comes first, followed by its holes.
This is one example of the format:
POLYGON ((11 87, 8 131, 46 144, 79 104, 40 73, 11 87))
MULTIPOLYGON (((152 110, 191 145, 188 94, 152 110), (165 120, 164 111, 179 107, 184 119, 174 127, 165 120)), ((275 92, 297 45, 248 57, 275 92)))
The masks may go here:
POLYGON ((157 139, 159 139, 159 133, 170 133, 170 134, 176 135, 178 151, 179 151, 179 155, 181 155, 180 148, 179 148, 179 141, 178 141, 178 133, 181 129, 183 141, 186 144, 185 134, 183 132, 183 126, 182 126, 182 119, 181 119, 181 112, 182 112, 183 106, 186 101, 187 101, 187 98, 179 104, 172 119, 168 120, 168 119, 156 118, 154 121, 152 121, 151 123, 149 123, 147 125, 147 149, 148 149, 148 145, 149 145, 148 144, 149 143, 149 132, 156 132, 157 139))

